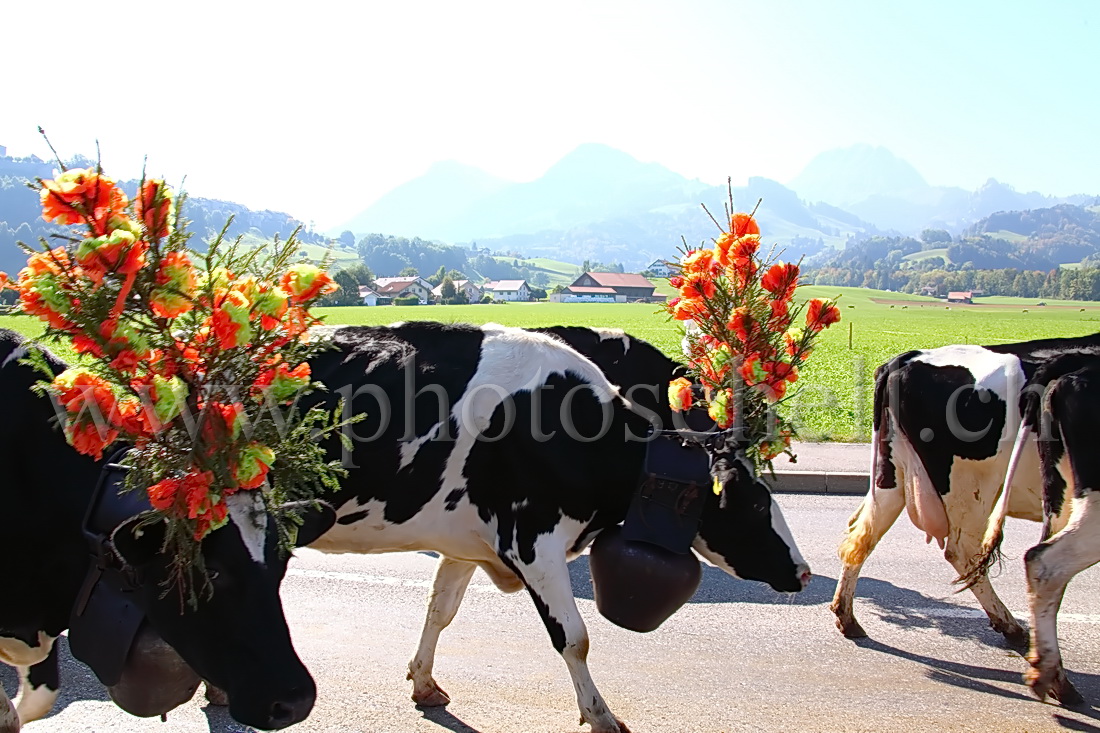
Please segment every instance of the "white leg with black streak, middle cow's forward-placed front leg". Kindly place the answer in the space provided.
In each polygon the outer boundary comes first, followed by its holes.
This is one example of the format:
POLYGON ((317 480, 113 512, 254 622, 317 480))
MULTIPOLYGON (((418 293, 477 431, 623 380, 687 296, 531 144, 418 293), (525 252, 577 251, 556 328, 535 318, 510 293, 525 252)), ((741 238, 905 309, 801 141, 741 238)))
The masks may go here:
POLYGON ((587 663, 588 631, 573 599, 564 548, 556 549, 559 548, 538 546, 535 559, 528 565, 515 557, 505 562, 527 586, 553 647, 565 660, 581 708, 581 723, 592 725, 592 733, 629 733, 626 724, 612 714, 592 681, 587 663))

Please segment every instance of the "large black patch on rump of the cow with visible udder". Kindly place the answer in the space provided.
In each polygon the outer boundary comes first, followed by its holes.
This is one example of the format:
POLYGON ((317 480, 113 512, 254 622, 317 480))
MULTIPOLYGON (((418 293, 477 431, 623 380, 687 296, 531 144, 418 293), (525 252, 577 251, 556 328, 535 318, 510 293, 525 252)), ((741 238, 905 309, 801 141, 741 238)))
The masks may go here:
POLYGON ((1008 405, 977 387, 970 370, 910 361, 887 376, 887 395, 888 409, 941 495, 950 491, 956 457, 982 460, 997 455, 1008 405), (894 395, 905 396, 891 400, 894 395))

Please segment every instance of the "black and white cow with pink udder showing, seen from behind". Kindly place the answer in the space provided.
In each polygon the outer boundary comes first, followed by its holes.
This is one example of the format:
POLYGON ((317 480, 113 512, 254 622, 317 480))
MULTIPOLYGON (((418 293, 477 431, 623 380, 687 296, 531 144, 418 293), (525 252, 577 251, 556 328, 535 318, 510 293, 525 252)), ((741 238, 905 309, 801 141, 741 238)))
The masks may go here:
MULTIPOLYGON (((1100 353, 1100 335, 997 346, 947 346, 909 351, 875 372, 871 486, 840 543, 844 570, 832 610, 848 637, 866 636, 853 598, 859 570, 893 522, 908 514, 967 583, 990 625, 1014 646, 1027 634, 993 591, 979 562, 986 525, 1022 438, 1009 515, 1043 519, 1035 440, 1021 427, 1021 398, 1053 374, 1045 364, 1066 354, 1100 353)), ((1065 515, 1050 519, 1055 528, 1065 515)))

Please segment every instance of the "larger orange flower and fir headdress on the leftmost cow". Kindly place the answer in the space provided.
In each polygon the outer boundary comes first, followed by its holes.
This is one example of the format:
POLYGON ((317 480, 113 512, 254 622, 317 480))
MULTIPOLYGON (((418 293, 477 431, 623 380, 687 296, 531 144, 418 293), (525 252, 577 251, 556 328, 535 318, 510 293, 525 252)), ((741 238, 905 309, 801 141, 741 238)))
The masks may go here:
POLYGON ((98 166, 62 168, 37 182, 43 217, 78 229, 61 247, 23 244, 26 266, 0 286, 46 322, 44 338, 82 355, 44 384, 69 444, 97 459, 132 445, 128 488, 167 521, 176 578, 205 577, 198 543, 227 522, 229 496, 282 504, 337 486, 341 469, 315 438, 339 413, 286 406, 312 389, 308 360, 323 346, 306 338, 320 322, 309 307, 337 285, 292 263, 297 232, 266 253, 222 237, 200 253, 163 180, 131 199, 98 166))

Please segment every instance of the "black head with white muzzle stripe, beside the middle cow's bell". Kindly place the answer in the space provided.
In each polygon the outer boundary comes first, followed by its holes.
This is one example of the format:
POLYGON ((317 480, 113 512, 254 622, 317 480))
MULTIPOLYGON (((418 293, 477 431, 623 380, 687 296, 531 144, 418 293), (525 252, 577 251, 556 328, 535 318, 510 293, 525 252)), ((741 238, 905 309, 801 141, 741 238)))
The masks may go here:
POLYGON ((751 461, 723 434, 708 440, 706 448, 722 493, 707 492, 695 550, 736 578, 759 580, 778 591, 803 590, 810 582, 810 566, 751 461))

